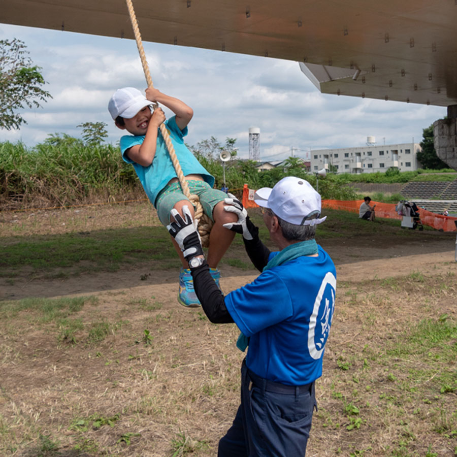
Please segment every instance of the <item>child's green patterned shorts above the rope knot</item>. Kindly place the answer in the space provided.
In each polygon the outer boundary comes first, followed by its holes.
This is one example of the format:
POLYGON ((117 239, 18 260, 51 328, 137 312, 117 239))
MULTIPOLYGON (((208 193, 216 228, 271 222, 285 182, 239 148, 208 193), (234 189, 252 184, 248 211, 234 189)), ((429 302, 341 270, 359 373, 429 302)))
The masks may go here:
MULTIPOLYGON (((214 207, 219 202, 223 202, 227 198, 227 194, 222 192, 222 190, 211 188, 205 181, 188 180, 187 185, 191 194, 199 196, 204 213, 214 222, 214 207)), ((170 223, 170 211, 181 200, 187 200, 189 202, 189 199, 182 193, 179 182, 168 184, 159 192, 155 203, 157 215, 162 224, 168 225, 170 223)), ((189 202, 189 207, 190 205, 191 203, 189 202)))

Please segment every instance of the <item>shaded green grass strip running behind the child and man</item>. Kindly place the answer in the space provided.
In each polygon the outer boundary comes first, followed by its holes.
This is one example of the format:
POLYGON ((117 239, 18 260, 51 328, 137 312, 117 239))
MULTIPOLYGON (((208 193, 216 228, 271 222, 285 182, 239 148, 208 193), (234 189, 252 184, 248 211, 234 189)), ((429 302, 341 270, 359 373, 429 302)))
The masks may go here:
MULTIPOLYGON (((250 209, 254 224, 259 227, 260 239, 271 249, 267 228, 258 209, 250 209)), ((378 218, 367 223, 357 214, 346 211, 323 209, 325 223, 317 226, 316 239, 392 234, 405 239, 415 238, 416 232, 401 230, 398 220, 378 218)), ((425 232, 433 233, 430 227, 425 232)), ((426 241, 427 235, 422 233, 426 241)), ((0 276, 10 282, 24 269, 34 277, 66 278, 70 275, 98 271, 118 271, 122 267, 155 263, 160 269, 178 269, 180 261, 164 227, 113 228, 84 233, 59 235, 13 236, 2 239, 0 246, 0 276)), ((232 246, 222 259, 222 264, 240 270, 252 268, 244 252, 242 237, 235 237, 232 246)), ((144 276, 146 280, 147 275, 144 276)))

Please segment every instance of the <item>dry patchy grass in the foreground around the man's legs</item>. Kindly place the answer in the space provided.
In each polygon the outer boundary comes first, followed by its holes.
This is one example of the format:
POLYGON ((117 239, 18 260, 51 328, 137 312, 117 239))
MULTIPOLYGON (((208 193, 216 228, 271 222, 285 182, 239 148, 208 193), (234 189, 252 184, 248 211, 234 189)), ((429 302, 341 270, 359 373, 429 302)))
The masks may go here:
MULTIPOLYGON (((455 276, 337 293, 307 455, 455 455, 455 276)), ((0 319, 2 455, 215 455, 239 402, 234 324, 125 292, 73 307, 74 341, 41 317, 22 306, 0 319)))

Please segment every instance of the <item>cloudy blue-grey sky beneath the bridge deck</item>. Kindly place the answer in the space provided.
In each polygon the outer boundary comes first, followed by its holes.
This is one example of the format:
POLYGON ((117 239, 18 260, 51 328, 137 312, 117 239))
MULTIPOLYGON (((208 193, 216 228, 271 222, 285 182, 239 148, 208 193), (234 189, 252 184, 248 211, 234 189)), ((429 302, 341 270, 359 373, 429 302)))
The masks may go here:
MULTIPOLYGON (((53 99, 23 110, 20 130, 0 130, 0 141, 34 146, 51 134, 81 138, 83 122, 105 122, 107 142, 122 135, 108 101, 125 86, 146 88, 135 40, 76 34, 0 23, 0 40, 17 38, 42 68, 53 99)), ((154 87, 192 107, 185 141, 236 138, 238 156, 248 157, 249 128, 260 129, 260 159, 313 149, 422 139, 422 129, 446 115, 445 107, 321 94, 299 63, 222 51, 144 42, 154 87)), ((164 108, 167 117, 172 113, 164 108)))

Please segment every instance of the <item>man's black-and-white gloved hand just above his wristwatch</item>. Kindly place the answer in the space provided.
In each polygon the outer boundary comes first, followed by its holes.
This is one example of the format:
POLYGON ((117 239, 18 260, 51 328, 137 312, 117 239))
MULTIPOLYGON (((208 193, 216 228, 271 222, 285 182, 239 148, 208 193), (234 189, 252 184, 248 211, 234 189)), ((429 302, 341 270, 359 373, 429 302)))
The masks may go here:
POLYGON ((171 215, 175 219, 167 225, 167 230, 170 235, 176 240, 185 259, 189 262, 197 255, 204 255, 202 242, 199 232, 197 231, 197 221, 193 221, 187 205, 182 207, 184 219, 174 208, 171 210, 171 215))

